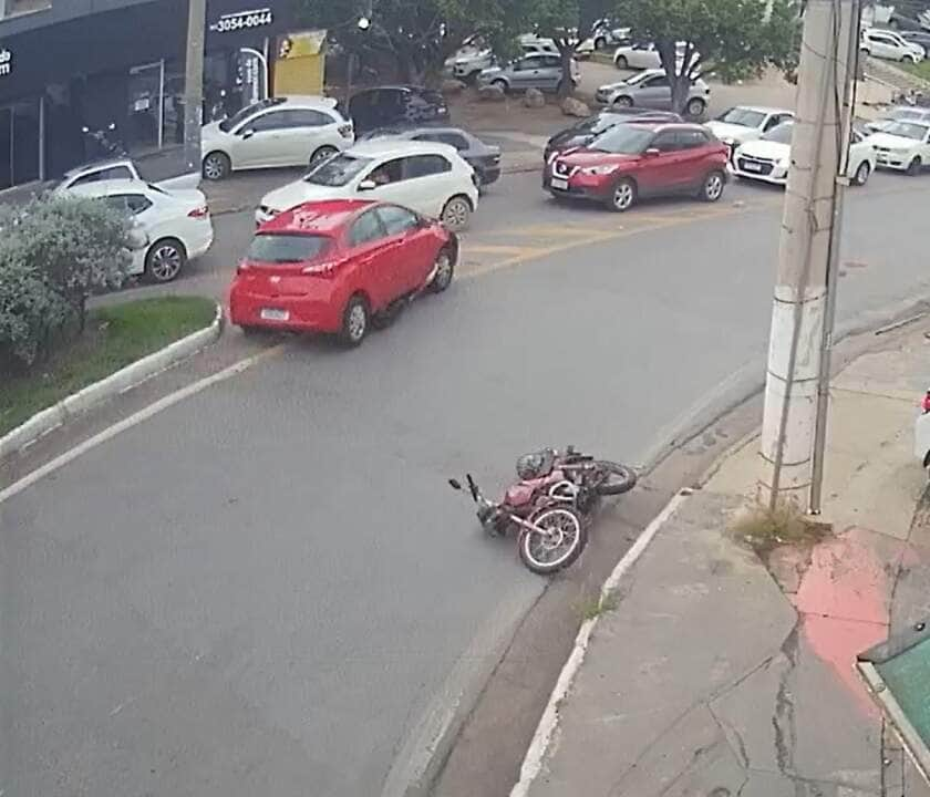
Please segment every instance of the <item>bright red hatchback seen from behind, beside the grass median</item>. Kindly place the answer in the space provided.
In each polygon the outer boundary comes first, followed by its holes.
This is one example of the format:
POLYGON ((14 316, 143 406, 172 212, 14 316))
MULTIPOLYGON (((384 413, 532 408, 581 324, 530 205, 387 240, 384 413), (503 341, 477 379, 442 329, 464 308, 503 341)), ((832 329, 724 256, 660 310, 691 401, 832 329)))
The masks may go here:
POLYGON ((358 345, 424 290, 452 282, 458 240, 399 205, 340 199, 298 205, 261 225, 229 290, 245 331, 338 333, 358 345))

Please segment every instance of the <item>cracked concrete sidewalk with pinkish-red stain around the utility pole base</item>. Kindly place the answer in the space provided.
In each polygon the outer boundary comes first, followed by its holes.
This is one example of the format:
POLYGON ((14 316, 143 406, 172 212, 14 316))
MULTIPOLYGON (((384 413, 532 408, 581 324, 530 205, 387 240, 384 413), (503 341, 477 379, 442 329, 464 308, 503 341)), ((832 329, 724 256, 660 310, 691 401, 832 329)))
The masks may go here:
POLYGON ((833 382, 823 519, 835 536, 767 563, 732 539, 757 441, 681 500, 598 618, 515 796, 930 797, 854 670, 930 612, 911 452, 928 328, 833 382))

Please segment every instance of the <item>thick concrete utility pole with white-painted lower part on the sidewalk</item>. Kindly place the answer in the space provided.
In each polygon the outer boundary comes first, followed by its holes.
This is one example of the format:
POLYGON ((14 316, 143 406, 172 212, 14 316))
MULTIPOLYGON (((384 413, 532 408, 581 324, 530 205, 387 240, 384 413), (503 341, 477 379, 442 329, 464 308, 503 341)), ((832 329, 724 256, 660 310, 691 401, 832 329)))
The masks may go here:
POLYGON ((830 343, 829 297, 836 289, 836 279, 828 279, 839 247, 836 193, 845 179, 851 122, 848 114, 844 124, 841 111, 851 104, 858 13, 857 0, 808 0, 804 15, 760 452, 758 498, 769 506, 787 497, 806 504, 812 487, 818 389, 826 401, 820 375, 822 366, 828 368, 823 354, 830 343))

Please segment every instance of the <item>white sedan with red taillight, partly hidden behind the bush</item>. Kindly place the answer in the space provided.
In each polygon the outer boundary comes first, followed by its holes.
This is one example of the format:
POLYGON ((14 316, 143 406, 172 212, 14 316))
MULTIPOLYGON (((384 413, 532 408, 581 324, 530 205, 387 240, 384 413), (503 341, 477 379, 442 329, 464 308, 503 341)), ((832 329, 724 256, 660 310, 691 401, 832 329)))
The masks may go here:
POLYGON ((107 179, 73 186, 68 194, 103 199, 133 218, 146 245, 133 251, 130 273, 153 282, 170 282, 213 245, 210 211, 199 190, 168 192, 142 180, 107 179))

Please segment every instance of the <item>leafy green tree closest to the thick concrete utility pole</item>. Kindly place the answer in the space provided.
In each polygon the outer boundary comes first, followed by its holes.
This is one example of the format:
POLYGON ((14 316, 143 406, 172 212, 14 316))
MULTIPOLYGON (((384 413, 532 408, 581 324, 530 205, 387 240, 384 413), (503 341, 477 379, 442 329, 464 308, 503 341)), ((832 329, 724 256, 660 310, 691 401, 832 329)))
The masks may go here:
POLYGON ((691 83, 715 72, 725 80, 797 65, 797 0, 618 0, 617 19, 655 43, 672 86, 672 110, 683 113, 691 83), (686 42, 678 53, 676 42, 686 42))

